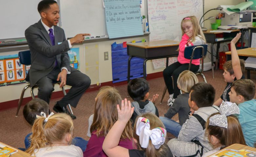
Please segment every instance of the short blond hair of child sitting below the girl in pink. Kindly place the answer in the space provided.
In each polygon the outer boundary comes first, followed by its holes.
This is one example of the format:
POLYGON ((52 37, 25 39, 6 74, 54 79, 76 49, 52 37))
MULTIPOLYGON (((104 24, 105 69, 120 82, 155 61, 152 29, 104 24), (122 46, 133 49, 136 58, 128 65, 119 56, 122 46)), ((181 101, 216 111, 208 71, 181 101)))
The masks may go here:
POLYGON ((182 92, 189 93, 192 86, 198 83, 196 74, 192 71, 185 70, 178 77, 177 84, 182 92))

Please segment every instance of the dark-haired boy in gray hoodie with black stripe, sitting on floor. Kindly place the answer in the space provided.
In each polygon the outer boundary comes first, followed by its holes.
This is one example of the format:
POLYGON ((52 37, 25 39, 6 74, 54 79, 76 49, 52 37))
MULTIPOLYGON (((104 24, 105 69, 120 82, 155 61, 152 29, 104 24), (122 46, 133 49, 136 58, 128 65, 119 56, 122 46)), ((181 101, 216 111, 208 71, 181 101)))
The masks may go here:
POLYGON ((200 82, 191 88, 188 105, 191 116, 182 125, 178 138, 171 139, 168 146, 175 156, 198 156, 212 150, 212 145, 205 136, 205 121, 219 107, 212 105, 215 89, 210 84, 200 82))

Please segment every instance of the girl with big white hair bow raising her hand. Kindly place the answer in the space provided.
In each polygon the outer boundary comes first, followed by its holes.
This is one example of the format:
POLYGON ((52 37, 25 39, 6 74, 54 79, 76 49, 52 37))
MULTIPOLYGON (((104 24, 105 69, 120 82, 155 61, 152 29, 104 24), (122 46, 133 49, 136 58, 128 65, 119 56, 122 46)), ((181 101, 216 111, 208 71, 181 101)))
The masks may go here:
POLYGON ((103 150, 109 157, 173 157, 166 145, 166 130, 160 119, 146 113, 137 117, 133 128, 134 142, 138 149, 127 149, 118 146, 121 134, 134 111, 131 102, 125 99, 121 108, 117 105, 118 120, 110 129, 103 142, 103 150))

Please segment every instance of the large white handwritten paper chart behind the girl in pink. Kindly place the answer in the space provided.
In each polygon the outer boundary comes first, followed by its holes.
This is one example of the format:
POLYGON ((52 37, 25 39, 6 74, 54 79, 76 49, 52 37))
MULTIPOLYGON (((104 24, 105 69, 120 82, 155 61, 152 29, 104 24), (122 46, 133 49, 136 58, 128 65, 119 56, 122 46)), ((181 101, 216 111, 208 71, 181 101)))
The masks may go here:
POLYGON ((203 0, 148 0, 149 40, 181 39, 181 20, 203 16, 203 0))

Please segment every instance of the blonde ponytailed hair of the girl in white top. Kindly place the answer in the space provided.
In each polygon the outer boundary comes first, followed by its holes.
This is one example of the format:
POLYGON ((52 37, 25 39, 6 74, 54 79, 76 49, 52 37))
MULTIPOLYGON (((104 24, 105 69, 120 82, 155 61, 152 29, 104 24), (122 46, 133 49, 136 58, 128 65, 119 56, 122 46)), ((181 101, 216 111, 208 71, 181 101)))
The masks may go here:
POLYGON ((52 115, 47 122, 44 117, 36 118, 32 127, 31 145, 26 150, 35 154, 35 149, 52 146, 55 141, 62 141, 67 133, 73 134, 73 121, 68 114, 57 113, 52 115))

